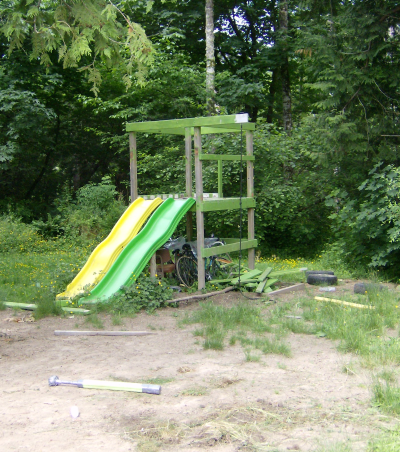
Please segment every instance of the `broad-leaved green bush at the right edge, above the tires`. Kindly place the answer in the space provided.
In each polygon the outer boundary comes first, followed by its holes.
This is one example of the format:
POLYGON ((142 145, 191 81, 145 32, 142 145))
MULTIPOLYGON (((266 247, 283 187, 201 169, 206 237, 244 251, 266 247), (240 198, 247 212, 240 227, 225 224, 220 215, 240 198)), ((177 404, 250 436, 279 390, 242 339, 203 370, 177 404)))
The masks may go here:
POLYGON ((376 165, 354 197, 336 190, 327 203, 346 258, 398 277, 400 264, 400 170, 376 165))

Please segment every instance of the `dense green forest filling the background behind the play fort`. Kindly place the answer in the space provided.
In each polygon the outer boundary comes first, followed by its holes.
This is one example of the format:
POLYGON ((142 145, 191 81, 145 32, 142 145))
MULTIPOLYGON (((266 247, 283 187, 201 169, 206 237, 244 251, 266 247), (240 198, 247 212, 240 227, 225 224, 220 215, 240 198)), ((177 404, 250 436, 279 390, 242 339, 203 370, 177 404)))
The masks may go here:
MULTIPOLYGON (((74 243, 109 232, 129 202, 127 122, 246 112, 261 253, 331 253, 398 278, 398 2, 206 4, 1 2, 0 251, 20 249, 4 231, 21 224, 74 243)), ((242 137, 203 146, 238 154, 242 137)), ((181 138, 141 134, 138 150, 140 193, 184 191, 181 138)), ((216 191, 216 168, 204 177, 216 191)), ((224 167, 224 195, 239 191, 240 166, 224 167)), ((222 237, 238 224, 206 218, 222 237)))

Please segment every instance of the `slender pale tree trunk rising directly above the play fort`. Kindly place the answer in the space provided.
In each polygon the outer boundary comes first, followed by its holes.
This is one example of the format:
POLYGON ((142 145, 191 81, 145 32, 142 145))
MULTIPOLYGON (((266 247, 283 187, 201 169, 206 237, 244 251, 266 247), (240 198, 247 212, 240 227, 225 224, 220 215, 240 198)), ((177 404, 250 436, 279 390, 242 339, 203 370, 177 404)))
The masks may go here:
POLYGON ((215 114, 214 1, 206 0, 206 97, 209 116, 215 114))

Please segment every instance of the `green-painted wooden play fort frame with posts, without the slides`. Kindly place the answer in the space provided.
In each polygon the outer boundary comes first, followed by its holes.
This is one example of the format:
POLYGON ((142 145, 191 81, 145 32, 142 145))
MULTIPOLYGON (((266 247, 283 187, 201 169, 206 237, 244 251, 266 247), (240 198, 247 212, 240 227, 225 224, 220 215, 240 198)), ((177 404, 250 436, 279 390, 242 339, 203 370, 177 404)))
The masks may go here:
MULTIPOLYGON (((197 230, 197 256, 198 265, 198 288, 205 287, 205 259, 215 254, 231 253, 239 250, 248 250, 248 267, 254 269, 255 248, 257 240, 254 237, 254 156, 253 156, 253 131, 255 125, 248 122, 247 114, 210 116, 200 118, 174 119, 166 121, 147 121, 129 123, 126 126, 129 132, 130 148, 130 182, 131 202, 138 196, 137 179, 137 133, 158 133, 182 135, 185 139, 185 173, 186 193, 184 194, 140 194, 143 197, 161 196, 161 198, 194 197, 196 204, 192 211, 186 215, 187 239, 192 240, 193 235, 193 212, 196 215, 197 230), (219 133, 245 133, 246 153, 243 155, 231 154, 205 154, 202 152, 202 135, 219 133), (192 165, 194 156, 195 193, 193 193, 192 165), (215 161, 218 165, 218 193, 203 193, 203 161, 215 161), (223 196, 222 165, 223 162, 243 161, 247 165, 247 193, 241 198, 225 198, 223 196), (248 222, 247 239, 224 238, 226 245, 215 248, 204 247, 204 215, 210 212, 246 209, 248 222)), ((155 273, 155 257, 152 259, 151 271, 155 273)))

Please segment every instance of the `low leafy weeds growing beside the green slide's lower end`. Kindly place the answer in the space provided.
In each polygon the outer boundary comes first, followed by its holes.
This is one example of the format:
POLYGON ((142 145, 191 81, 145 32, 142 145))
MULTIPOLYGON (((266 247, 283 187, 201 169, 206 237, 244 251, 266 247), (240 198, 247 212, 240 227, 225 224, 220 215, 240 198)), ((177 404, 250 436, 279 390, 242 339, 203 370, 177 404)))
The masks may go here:
POLYGON ((122 286, 120 292, 107 302, 107 309, 114 314, 131 315, 145 309, 148 313, 165 306, 172 298, 173 290, 163 280, 141 274, 130 286, 122 286))

